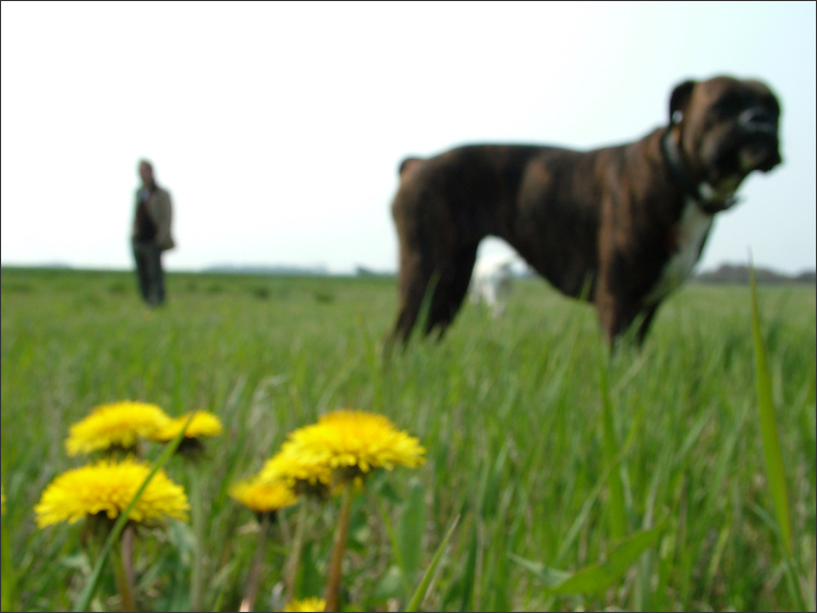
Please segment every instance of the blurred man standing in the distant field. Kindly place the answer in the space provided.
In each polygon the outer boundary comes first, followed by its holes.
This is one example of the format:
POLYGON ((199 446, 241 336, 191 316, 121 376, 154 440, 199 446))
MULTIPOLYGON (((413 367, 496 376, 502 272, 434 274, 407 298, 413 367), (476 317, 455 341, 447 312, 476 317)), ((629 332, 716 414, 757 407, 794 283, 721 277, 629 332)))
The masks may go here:
POLYGON ((133 257, 142 297, 150 306, 164 302, 164 271, 161 253, 175 244, 170 235, 172 205, 167 189, 159 187, 154 177, 154 167, 139 161, 142 187, 136 192, 136 213, 133 221, 133 257))

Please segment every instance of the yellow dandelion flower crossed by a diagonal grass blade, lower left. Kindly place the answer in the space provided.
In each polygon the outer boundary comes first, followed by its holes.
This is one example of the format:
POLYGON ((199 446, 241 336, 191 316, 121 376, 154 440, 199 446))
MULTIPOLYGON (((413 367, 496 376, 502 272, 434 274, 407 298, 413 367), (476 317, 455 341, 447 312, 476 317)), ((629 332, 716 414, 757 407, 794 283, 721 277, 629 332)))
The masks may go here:
MULTIPOLYGON (((34 512, 40 528, 105 513, 113 519, 131 503, 150 465, 129 457, 102 459, 59 475, 42 492, 34 512)), ((131 510, 133 522, 156 522, 164 516, 186 519, 190 510, 184 489, 159 470, 131 510)))

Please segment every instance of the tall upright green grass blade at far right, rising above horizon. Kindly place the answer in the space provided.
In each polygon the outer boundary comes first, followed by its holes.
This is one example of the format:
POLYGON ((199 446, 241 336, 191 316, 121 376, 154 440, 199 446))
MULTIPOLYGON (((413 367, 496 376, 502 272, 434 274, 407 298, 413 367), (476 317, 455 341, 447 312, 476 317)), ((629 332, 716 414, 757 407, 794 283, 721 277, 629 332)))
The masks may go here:
POLYGON ((755 379, 757 382, 757 401, 760 412, 760 438, 766 458, 766 477, 769 480, 771 498, 775 503, 780 534, 783 539, 786 555, 792 557, 792 528, 789 513, 789 492, 785 486, 783 470, 783 454, 780 450, 780 434, 775 413, 775 402, 771 397, 771 377, 766 363, 766 347, 760 333, 760 315, 757 307, 757 284, 755 268, 749 268, 749 287, 752 293, 752 332, 755 340, 755 379))

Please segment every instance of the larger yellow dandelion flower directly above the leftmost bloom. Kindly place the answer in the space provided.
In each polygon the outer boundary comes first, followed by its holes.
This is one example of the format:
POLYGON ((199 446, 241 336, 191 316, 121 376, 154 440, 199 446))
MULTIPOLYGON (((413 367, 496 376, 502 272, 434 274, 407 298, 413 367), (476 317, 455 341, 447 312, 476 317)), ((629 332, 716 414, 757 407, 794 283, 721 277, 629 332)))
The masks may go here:
POLYGON ((111 446, 132 448, 139 437, 150 437, 170 418, 155 404, 119 402, 96 407, 69 429, 69 455, 92 453, 111 446))

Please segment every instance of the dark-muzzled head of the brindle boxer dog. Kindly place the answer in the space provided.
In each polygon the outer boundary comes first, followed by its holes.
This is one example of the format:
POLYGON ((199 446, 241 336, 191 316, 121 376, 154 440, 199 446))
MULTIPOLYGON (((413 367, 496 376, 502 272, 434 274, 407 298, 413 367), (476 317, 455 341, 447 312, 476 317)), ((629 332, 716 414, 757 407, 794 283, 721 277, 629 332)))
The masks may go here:
POLYGON ((670 98, 671 130, 693 181, 727 198, 755 170, 782 160, 780 102, 759 81, 718 76, 686 81, 670 98))

